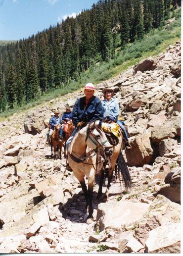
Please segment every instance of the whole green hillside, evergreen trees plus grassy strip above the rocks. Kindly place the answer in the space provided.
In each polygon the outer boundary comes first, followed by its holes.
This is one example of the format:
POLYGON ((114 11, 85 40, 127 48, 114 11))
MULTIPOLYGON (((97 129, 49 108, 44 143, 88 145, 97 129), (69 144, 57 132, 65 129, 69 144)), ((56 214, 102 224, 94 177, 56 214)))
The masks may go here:
POLYGON ((89 79, 97 83, 158 52, 166 40, 180 38, 180 4, 100 0, 75 19, 0 47, 0 111, 7 115, 9 109, 67 94, 89 79), (174 16, 177 21, 165 29, 174 16))

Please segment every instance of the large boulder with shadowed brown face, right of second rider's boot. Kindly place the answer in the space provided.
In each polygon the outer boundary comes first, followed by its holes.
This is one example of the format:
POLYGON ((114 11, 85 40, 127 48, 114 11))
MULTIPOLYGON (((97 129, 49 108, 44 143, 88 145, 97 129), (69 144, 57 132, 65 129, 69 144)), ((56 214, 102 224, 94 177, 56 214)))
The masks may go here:
POLYGON ((143 166, 153 161, 153 150, 148 133, 138 135, 131 143, 132 149, 126 151, 129 166, 143 166))

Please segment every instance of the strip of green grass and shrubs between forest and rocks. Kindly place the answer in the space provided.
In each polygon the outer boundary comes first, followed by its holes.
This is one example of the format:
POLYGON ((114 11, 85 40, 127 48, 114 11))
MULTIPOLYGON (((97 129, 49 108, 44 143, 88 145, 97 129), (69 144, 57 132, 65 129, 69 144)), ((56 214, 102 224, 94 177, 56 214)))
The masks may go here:
POLYGON ((57 97, 77 91, 84 87, 87 82, 97 84, 115 77, 129 67, 136 65, 141 59, 150 55, 155 57, 160 52, 165 51, 169 45, 174 45, 176 41, 181 40, 181 18, 179 15, 177 16, 178 19, 172 22, 170 26, 164 26, 161 29, 150 31, 143 39, 129 44, 123 51, 118 49, 118 56, 116 56, 115 59, 109 62, 96 63, 82 74, 78 81, 72 81, 69 86, 57 88, 52 92, 42 95, 37 101, 29 102, 0 113, 0 121, 15 112, 29 110, 30 108, 49 102, 57 97))

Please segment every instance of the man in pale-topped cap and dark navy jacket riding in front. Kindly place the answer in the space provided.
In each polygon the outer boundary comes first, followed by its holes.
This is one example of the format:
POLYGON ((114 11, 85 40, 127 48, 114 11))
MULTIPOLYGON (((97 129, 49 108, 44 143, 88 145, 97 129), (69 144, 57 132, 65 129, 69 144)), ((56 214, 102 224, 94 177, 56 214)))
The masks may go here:
POLYGON ((103 119, 103 107, 100 99, 94 96, 94 85, 88 83, 84 90, 85 96, 76 100, 72 111, 72 121, 76 129, 71 134, 66 143, 66 149, 76 134, 77 128, 83 126, 84 123, 92 123, 95 120, 103 119))

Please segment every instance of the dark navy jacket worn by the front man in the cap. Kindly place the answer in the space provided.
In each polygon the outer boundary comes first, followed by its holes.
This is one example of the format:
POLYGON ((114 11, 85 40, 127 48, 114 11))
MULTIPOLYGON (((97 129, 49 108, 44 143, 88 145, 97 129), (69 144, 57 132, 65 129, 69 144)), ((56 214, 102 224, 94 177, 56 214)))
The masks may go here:
POLYGON ((100 99, 92 96, 90 102, 86 105, 86 97, 76 100, 72 111, 72 120, 75 126, 81 121, 94 122, 103 119, 103 107, 100 99))

